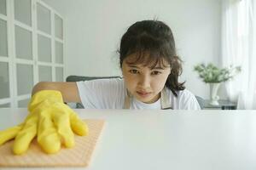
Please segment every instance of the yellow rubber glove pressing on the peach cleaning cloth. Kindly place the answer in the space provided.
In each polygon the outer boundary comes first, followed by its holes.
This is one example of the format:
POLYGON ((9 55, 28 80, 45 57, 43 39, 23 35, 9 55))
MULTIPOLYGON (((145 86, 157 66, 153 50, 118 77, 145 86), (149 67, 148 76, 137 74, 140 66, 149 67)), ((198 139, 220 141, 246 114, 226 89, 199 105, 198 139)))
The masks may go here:
POLYGON ((61 92, 42 90, 32 96, 28 105, 29 115, 18 126, 0 132, 0 145, 15 138, 13 152, 26 152, 32 139, 37 136, 38 144, 49 154, 74 145, 74 134, 84 136, 87 125, 79 116, 63 103, 61 92))

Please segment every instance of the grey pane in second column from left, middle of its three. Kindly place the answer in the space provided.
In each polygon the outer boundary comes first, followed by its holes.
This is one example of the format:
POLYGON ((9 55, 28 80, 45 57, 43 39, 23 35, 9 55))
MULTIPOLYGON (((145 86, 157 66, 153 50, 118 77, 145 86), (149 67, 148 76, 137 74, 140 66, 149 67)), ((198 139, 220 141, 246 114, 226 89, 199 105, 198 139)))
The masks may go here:
POLYGON ((32 59, 32 32, 15 26, 16 57, 32 59))

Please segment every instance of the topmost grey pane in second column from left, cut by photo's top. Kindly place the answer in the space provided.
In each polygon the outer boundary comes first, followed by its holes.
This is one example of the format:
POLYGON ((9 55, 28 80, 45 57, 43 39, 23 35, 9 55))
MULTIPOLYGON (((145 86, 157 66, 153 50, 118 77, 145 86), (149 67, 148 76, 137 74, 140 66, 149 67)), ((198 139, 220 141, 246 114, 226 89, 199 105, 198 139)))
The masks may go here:
POLYGON ((31 0, 15 0, 15 20, 32 26, 31 0))

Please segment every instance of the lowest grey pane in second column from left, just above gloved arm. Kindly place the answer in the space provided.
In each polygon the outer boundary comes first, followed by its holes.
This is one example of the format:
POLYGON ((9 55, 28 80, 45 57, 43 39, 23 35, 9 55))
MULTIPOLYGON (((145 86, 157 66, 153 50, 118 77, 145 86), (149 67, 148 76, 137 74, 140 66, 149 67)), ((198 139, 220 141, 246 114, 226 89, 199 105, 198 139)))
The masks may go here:
POLYGON ((33 88, 32 65, 17 64, 18 95, 31 94, 33 88))

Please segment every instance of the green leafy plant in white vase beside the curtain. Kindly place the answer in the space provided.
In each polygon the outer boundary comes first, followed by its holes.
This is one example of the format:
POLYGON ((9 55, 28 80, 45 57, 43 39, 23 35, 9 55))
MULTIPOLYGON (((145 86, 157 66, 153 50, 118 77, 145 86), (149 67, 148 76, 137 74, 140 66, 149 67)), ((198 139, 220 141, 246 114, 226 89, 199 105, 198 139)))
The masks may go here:
POLYGON ((220 82, 226 82, 235 77, 241 71, 241 66, 233 66, 218 68, 212 63, 205 65, 195 65, 194 70, 198 72, 201 79, 210 84, 210 105, 218 105, 218 88, 220 82))

